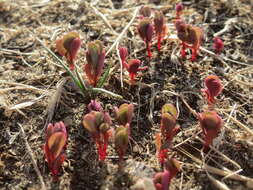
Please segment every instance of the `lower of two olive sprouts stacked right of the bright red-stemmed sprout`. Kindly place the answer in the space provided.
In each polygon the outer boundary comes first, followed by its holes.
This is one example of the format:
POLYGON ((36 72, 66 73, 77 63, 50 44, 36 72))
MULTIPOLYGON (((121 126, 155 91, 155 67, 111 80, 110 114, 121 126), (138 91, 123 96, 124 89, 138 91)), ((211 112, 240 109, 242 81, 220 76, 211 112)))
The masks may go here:
POLYGON ((114 143, 115 149, 119 155, 120 161, 123 160, 123 157, 126 153, 127 146, 129 142, 129 124, 125 126, 119 126, 115 131, 114 143))

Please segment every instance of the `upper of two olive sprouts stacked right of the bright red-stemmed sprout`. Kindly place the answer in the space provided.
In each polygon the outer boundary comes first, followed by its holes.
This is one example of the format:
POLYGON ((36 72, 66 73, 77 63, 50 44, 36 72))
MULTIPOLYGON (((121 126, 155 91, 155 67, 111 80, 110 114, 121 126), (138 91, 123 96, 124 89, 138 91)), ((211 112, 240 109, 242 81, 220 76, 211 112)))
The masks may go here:
POLYGON ((114 107, 116 113, 116 120, 120 125, 126 126, 127 124, 131 124, 133 113, 134 113, 134 105, 133 104, 121 104, 119 108, 114 107))

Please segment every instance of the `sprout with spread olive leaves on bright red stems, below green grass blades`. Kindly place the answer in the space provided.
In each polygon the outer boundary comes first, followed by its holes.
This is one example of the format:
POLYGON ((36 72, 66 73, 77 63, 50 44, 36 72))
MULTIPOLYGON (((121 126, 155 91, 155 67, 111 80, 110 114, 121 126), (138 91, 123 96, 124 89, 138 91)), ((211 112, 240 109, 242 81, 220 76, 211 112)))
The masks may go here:
POLYGON ((94 139, 99 160, 106 158, 106 150, 112 131, 110 130, 111 117, 106 112, 91 111, 83 117, 83 126, 94 139))

